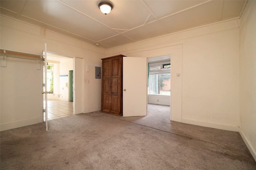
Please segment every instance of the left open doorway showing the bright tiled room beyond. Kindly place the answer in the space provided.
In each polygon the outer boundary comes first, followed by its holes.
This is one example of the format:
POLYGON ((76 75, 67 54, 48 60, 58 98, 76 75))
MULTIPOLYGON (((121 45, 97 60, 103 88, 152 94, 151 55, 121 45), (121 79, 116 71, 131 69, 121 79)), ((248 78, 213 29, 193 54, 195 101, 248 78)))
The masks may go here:
POLYGON ((74 114, 74 58, 47 52, 48 120, 74 114))

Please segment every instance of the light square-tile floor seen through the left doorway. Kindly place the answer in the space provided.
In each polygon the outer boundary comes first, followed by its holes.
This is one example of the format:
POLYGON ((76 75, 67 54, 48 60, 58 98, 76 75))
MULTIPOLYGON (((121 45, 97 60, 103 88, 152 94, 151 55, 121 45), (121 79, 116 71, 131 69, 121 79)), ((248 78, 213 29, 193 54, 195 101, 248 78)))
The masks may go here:
POLYGON ((48 120, 73 115, 73 102, 61 100, 47 101, 48 120))

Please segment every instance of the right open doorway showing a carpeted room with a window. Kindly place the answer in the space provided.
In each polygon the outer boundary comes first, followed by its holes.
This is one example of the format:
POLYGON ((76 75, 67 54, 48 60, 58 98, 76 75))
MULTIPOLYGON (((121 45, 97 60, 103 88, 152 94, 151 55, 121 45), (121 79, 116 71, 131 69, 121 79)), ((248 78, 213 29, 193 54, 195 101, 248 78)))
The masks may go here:
POLYGON ((170 70, 171 55, 148 58, 147 115, 159 119, 160 122, 170 119, 170 70))

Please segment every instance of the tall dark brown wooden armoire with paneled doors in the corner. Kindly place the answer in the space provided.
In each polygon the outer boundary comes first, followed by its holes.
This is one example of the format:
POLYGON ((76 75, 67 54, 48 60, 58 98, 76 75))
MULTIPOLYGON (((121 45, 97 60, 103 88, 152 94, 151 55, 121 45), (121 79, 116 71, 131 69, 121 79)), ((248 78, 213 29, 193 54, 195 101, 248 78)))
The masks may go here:
POLYGON ((123 57, 115 55, 102 59, 101 112, 123 115, 123 57))

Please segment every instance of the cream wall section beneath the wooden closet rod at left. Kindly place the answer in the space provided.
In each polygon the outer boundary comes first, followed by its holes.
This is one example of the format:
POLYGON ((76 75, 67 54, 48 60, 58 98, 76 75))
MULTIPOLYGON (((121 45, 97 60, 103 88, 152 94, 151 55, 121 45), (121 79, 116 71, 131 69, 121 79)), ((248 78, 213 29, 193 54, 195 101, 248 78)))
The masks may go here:
POLYGON ((1 130, 32 125, 43 121, 42 61, 8 55, 1 72, 1 130))

